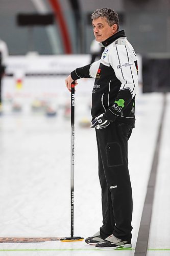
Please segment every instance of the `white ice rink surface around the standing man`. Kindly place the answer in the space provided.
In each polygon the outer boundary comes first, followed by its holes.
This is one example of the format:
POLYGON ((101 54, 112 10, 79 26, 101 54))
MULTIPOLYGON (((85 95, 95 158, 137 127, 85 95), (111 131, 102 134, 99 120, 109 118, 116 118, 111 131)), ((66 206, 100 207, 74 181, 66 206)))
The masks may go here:
MULTIPOLYGON (((60 80, 60 87, 65 87, 64 79, 60 80)), ((102 225, 95 132, 79 126, 81 118, 90 118, 87 102, 90 102, 92 82, 82 80, 76 90, 74 234, 84 238, 98 231, 102 225), (89 94, 81 92, 83 86, 88 86, 89 94)), ((10 81, 6 81, 6 86, 10 87, 10 81)), ((70 121, 64 119, 62 107, 63 102, 69 101, 69 93, 64 91, 56 97, 56 102, 53 98, 58 115, 51 118, 43 113, 32 113, 27 97, 23 102, 22 95, 20 101, 22 112, 13 113, 11 103, 6 100, 4 114, 0 116, 0 237, 70 236, 70 121)), ((134 255, 162 104, 161 93, 141 94, 139 90, 136 127, 129 140, 129 171, 133 189, 131 250, 99 251, 84 241, 6 243, 0 244, 0 256, 134 255)), ((167 95, 161 140, 149 256, 170 255, 169 117, 170 94, 167 95)))

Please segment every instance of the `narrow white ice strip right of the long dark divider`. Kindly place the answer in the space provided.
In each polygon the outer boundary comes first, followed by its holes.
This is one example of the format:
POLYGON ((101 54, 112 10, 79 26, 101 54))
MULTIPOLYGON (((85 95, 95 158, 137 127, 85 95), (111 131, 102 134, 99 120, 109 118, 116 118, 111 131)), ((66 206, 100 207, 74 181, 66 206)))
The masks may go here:
MULTIPOLYGON (((167 94, 167 106, 165 111, 165 119, 162 131, 160 156, 158 163, 158 173, 155 187, 155 197, 153 203, 152 219, 150 226, 149 248, 170 248, 170 94, 167 94)), ((147 256, 158 255, 158 252, 148 251, 147 256), (156 254, 157 253, 157 254, 156 254)), ((162 252, 160 253, 162 254, 162 252)), ((169 252, 170 255, 170 252, 169 252)))

